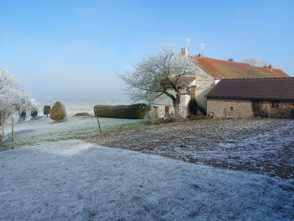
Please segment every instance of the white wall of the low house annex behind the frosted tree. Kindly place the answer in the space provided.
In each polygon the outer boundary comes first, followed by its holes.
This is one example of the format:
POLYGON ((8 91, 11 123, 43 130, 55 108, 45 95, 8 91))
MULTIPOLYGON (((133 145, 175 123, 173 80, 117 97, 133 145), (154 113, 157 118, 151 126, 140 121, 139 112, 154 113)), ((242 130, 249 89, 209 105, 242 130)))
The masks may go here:
MULTIPOLYGON (((186 89, 181 89, 181 93, 186 93, 186 89)), ((175 95, 176 92, 173 89, 168 90, 168 93, 175 95)), ((190 95, 188 94, 182 94, 180 98, 180 110, 186 111, 186 116, 189 116, 188 113, 188 106, 189 106, 189 101, 190 101, 190 95)), ((175 109, 173 108, 173 100, 164 95, 161 95, 159 98, 153 100, 150 102, 150 111, 153 111, 157 107, 158 111, 158 118, 163 118, 165 116, 165 107, 169 107, 169 113, 175 112, 175 109)))

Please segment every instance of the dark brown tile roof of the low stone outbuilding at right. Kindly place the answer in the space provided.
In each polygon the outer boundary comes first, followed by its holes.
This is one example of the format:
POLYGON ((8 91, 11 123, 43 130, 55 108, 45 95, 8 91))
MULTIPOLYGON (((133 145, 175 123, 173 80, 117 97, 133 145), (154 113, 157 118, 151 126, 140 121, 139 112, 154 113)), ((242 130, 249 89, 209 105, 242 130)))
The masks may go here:
POLYGON ((294 77, 222 79, 206 96, 294 100, 294 77))

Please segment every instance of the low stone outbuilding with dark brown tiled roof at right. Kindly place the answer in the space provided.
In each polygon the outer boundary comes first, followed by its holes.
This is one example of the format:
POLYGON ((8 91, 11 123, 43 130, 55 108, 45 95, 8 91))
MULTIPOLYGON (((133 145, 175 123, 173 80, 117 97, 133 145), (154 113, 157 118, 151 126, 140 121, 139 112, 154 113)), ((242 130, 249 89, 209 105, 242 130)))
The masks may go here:
POLYGON ((214 118, 292 118, 294 77, 222 79, 206 98, 214 118))

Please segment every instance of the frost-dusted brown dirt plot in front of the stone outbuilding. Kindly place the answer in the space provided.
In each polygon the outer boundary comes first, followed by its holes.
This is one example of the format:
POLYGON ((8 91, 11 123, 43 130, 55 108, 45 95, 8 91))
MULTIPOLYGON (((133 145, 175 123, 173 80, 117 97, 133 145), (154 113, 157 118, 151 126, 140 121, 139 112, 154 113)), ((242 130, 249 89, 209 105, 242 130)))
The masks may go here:
POLYGON ((82 138, 188 163, 294 178, 294 121, 199 120, 122 128, 82 138))

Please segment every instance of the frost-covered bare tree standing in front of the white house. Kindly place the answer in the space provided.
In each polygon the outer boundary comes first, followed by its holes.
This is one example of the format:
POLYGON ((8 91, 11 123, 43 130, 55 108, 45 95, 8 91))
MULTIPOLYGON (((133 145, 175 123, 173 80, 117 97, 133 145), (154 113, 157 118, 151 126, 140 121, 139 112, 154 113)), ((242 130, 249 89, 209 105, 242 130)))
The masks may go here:
POLYGON ((188 77, 195 71, 193 59, 176 51, 175 46, 160 45, 155 53, 143 56, 140 62, 132 65, 134 70, 117 75, 126 83, 123 92, 132 101, 152 101, 165 94, 172 99, 175 114, 178 115, 180 89, 186 87, 188 77), (168 92, 171 88, 176 95, 168 92))

